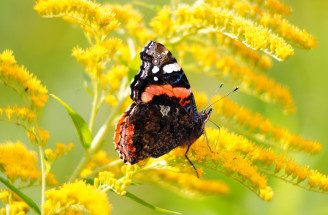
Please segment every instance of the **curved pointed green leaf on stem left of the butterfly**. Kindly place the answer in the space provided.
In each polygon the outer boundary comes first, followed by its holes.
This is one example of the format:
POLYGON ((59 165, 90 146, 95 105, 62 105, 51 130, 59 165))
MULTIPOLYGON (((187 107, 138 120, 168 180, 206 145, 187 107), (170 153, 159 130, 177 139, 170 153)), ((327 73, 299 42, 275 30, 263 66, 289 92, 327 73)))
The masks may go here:
POLYGON ((89 130, 89 127, 87 123, 84 121, 84 119, 76 113, 68 104, 63 102, 60 98, 57 96, 50 94, 52 97, 54 97, 57 101, 59 101, 65 108, 69 116, 71 117, 76 132, 79 135, 80 141, 85 149, 88 149, 92 142, 92 134, 89 130))

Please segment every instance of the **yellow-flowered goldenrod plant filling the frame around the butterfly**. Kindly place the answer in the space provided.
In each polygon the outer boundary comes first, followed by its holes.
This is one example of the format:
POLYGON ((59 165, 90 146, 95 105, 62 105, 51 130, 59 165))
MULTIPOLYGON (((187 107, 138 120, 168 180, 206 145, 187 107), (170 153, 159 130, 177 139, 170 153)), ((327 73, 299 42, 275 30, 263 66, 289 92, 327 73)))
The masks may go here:
MULTIPOLYGON (((289 88, 270 77, 268 70, 273 64, 282 64, 297 55, 299 49, 316 48, 317 40, 289 21, 292 9, 282 1, 100 4, 91 0, 37 0, 34 10, 39 19, 62 18, 82 29, 88 45, 76 43, 71 47, 72 56, 84 71, 83 74, 75 71, 75 75, 84 77, 81 85, 84 84, 91 98, 89 116, 78 114, 79 104, 72 105, 48 90, 28 70, 28 62, 26 67, 22 66, 12 50, 1 47, 0 83, 13 89, 19 99, 0 108, 0 121, 16 125, 15 132, 25 131, 27 135, 24 140, 7 139, 0 144, 1 215, 107 215, 112 210, 120 214, 120 208, 108 197, 114 194, 122 196, 120 201, 126 201, 124 205, 131 203, 123 198, 128 197, 155 213, 183 213, 167 205, 168 209, 154 206, 151 199, 142 197, 145 195, 131 191, 148 183, 188 198, 224 199, 239 195, 236 185, 231 189, 231 181, 236 181, 269 202, 275 192, 283 192, 275 189, 273 178, 303 188, 302 192, 328 193, 327 175, 299 160, 298 155, 319 153, 325 147, 320 140, 303 137, 273 122, 268 112, 255 111, 238 101, 246 96, 257 103, 275 106, 284 116, 296 111, 289 88), (217 87, 224 83, 225 89, 239 86, 233 96, 223 99, 221 92, 211 97, 194 90, 198 110, 208 105, 213 108, 210 117, 213 123, 207 123, 206 133, 191 145, 188 153, 199 178, 186 160, 184 147, 134 165, 125 164, 114 152, 114 126, 132 103, 129 83, 140 66, 139 52, 150 40, 168 47, 188 77, 195 74, 205 80, 217 80, 217 87), (42 120, 47 120, 43 119, 43 110, 52 105, 47 104, 49 100, 65 109, 79 143, 57 142, 60 137, 53 137, 42 126, 42 120), (107 111, 106 117, 100 114, 102 110, 107 111), (76 158, 72 152, 78 146, 84 152, 76 158), (65 164, 76 166, 71 166, 70 174, 58 179, 61 168, 54 166, 63 157, 74 157, 79 162, 65 164), (37 187, 37 193, 36 189, 32 193, 27 189, 33 187, 37 187)), ((50 20, 44 21, 51 25, 50 20)), ((60 32, 56 37, 61 37, 60 32)), ((205 85, 202 90, 209 92, 205 85)), ((160 197, 158 194, 157 198, 160 197)), ((188 206, 180 208, 183 207, 188 206)))

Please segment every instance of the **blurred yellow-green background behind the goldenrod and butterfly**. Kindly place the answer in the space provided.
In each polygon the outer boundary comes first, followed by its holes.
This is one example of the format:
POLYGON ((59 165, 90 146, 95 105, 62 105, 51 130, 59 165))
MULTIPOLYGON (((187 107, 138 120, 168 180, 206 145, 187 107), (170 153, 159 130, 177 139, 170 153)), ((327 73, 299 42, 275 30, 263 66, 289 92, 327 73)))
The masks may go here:
MULTIPOLYGON (((298 163, 309 164, 311 168, 327 174, 328 99, 326 100, 325 95, 328 92, 328 1, 284 2, 293 8, 291 22, 305 28, 318 39, 316 49, 296 49, 295 56, 285 62, 274 62, 269 71, 271 77, 289 86, 297 112, 283 115, 277 107, 250 99, 242 93, 236 93, 232 97, 240 104, 263 113, 276 125, 284 126, 306 138, 321 141, 323 150, 316 156, 298 153, 289 155, 294 156, 298 163)), ((33 10, 33 5, 34 1, 0 0, 0 51, 12 49, 19 65, 25 65, 47 86, 50 93, 57 95, 85 119, 89 119, 91 98, 83 87, 83 70, 71 56, 74 46, 86 46, 85 37, 78 26, 72 26, 61 19, 41 18, 33 10)), ((154 15, 153 11, 147 9, 141 11, 147 20, 154 15)), ((205 85, 199 81, 202 78, 200 75, 188 71, 186 73, 195 90, 213 92, 218 86, 216 82, 205 85)), ((0 86, 0 95, 0 107, 20 104, 19 97, 10 89, 0 86)), ((107 114, 108 110, 103 109, 98 119, 107 114)), ((76 143, 72 154, 58 160, 54 165, 53 170, 58 180, 64 182, 83 152, 74 126, 64 108, 53 99, 44 108, 40 125, 50 132, 49 147, 54 147, 56 142, 76 143)), ((112 136, 113 133, 107 135, 104 147, 110 155, 116 157, 112 136)), ((28 142, 23 129, 0 123, 0 142, 5 140, 28 142)), ((35 149, 31 145, 28 148, 35 149)), ((309 192, 270 178, 269 185, 275 191, 275 196, 268 203, 231 179, 221 175, 218 177, 231 186, 231 192, 227 196, 188 199, 152 185, 131 187, 129 191, 154 205, 183 214, 328 214, 327 195, 309 192)), ((39 202, 37 189, 24 192, 39 202)), ((113 214, 156 214, 113 193, 109 193, 109 198, 113 204, 113 214)))

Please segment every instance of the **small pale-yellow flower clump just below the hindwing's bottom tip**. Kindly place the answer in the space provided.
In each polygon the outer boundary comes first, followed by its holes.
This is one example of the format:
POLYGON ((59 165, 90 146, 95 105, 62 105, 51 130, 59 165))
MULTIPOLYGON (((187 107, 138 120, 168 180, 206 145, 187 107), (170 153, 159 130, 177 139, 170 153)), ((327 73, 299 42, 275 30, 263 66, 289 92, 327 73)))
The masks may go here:
POLYGON ((101 190, 102 192, 113 190, 122 196, 126 195, 125 188, 132 183, 132 176, 138 169, 138 166, 123 165, 121 169, 123 177, 120 179, 116 179, 112 172, 100 172, 99 176, 94 180, 95 187, 98 187, 98 190, 101 190))

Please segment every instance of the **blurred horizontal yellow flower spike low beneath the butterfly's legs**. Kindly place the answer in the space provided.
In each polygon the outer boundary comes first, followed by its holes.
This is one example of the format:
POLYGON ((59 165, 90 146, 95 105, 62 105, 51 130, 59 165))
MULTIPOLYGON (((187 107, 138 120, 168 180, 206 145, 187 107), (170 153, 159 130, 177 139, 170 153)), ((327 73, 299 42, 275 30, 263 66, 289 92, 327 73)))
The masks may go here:
POLYGON ((223 195, 229 192, 229 187, 221 181, 199 179, 190 174, 175 173, 168 170, 145 171, 136 174, 135 178, 167 187, 190 197, 223 195))

